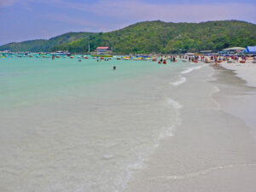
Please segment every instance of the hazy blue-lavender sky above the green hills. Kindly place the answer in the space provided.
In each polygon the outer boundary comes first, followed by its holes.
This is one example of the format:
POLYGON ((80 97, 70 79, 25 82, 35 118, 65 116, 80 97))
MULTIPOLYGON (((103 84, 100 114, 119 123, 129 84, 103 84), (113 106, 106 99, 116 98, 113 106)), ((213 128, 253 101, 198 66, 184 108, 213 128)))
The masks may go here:
POLYGON ((108 32, 143 20, 256 23, 255 0, 0 0, 0 44, 108 32))

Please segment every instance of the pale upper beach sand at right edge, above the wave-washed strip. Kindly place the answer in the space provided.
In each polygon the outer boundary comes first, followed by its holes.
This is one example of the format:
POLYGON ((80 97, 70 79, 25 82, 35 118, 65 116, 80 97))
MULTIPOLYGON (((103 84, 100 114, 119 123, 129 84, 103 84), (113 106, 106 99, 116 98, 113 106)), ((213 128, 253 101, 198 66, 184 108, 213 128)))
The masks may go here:
POLYGON ((214 97, 222 110, 246 122, 256 141, 256 79, 251 74, 256 67, 252 67, 253 70, 249 65, 229 67, 238 68, 238 70, 227 70, 225 65, 224 67, 221 65, 218 73, 215 73, 214 76, 218 81, 212 83, 218 86, 220 91, 214 97))

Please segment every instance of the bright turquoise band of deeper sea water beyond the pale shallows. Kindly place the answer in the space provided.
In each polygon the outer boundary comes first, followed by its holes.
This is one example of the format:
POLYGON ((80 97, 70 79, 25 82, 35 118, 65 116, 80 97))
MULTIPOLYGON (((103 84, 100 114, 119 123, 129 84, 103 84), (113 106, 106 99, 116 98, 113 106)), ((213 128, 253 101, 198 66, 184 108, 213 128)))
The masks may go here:
POLYGON ((140 75, 158 73, 151 61, 96 61, 61 58, 5 58, 0 60, 0 102, 15 107, 60 96, 69 90, 111 84, 140 75), (117 71, 112 70, 113 66, 117 71), (156 71, 155 71, 156 70, 156 71))

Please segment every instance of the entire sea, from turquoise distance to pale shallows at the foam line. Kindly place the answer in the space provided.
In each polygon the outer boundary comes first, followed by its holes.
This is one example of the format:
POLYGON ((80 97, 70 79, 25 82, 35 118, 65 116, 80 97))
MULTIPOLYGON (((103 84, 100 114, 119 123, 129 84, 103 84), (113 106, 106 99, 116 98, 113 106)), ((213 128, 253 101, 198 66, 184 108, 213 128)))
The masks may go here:
POLYGON ((180 123, 172 93, 193 69, 1 58, 0 191, 122 191, 180 123))

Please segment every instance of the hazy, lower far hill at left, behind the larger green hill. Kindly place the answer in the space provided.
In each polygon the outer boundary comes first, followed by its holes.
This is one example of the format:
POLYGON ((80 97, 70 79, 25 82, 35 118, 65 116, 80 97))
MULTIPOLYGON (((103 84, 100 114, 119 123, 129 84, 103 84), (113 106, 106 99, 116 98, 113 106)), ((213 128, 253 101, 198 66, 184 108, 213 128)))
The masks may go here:
POLYGON ((0 50, 11 50, 11 51, 49 51, 59 44, 67 44, 81 38, 87 38, 94 34, 93 32, 67 32, 55 38, 29 40, 20 43, 10 43, 0 46, 0 50))

